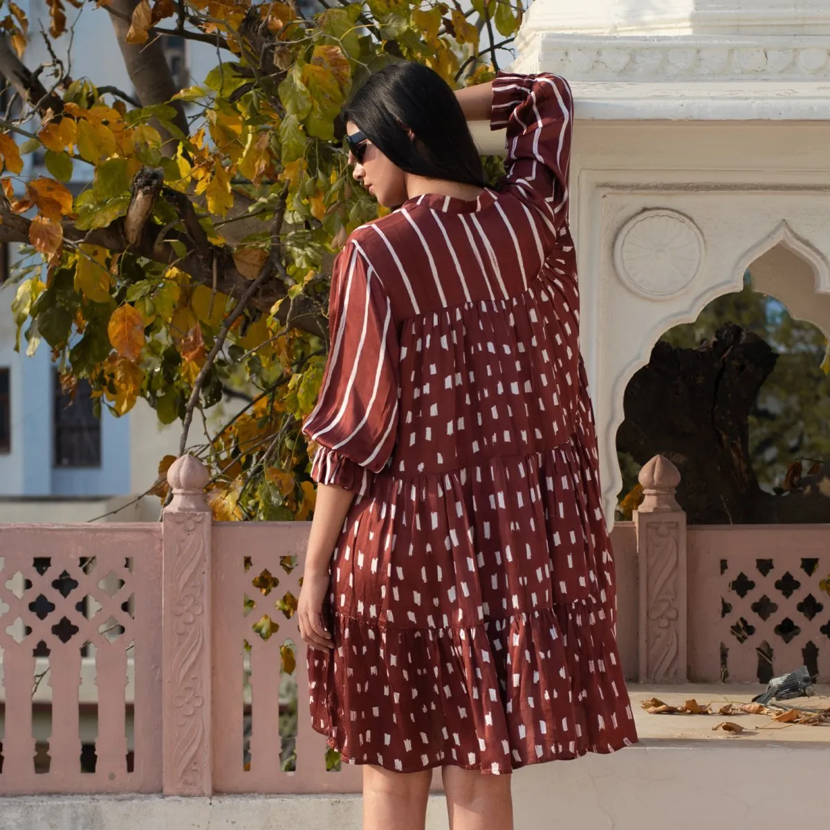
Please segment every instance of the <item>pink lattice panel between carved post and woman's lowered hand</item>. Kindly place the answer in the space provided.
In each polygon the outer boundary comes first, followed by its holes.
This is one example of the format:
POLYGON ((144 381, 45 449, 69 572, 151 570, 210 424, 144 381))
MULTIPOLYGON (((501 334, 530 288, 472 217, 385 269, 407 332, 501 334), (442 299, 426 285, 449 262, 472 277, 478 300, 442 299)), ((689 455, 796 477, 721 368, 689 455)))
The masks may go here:
POLYGON ((294 613, 296 564, 307 543, 305 523, 213 526, 217 792, 360 789, 359 769, 326 771, 325 739, 311 729, 305 643, 294 613))

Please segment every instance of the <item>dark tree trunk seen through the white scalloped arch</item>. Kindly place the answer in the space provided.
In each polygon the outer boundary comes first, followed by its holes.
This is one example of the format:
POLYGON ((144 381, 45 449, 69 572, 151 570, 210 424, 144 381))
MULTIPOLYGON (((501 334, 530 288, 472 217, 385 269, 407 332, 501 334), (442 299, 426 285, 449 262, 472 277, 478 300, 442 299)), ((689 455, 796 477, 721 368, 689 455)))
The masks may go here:
POLYGON ((777 359, 763 339, 730 324, 700 349, 657 343, 628 383, 618 450, 640 464, 657 454, 676 464, 690 524, 830 522, 830 465, 778 496, 752 469, 749 413, 777 359))

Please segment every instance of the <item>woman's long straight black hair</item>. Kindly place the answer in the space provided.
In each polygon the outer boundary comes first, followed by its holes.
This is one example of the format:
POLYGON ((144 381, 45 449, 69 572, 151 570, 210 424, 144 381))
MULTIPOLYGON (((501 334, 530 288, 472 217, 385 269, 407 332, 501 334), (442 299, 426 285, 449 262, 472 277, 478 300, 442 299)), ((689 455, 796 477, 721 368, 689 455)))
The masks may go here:
POLYGON ((385 66, 360 87, 343 115, 405 173, 487 185, 461 105, 428 66, 409 61, 385 66))

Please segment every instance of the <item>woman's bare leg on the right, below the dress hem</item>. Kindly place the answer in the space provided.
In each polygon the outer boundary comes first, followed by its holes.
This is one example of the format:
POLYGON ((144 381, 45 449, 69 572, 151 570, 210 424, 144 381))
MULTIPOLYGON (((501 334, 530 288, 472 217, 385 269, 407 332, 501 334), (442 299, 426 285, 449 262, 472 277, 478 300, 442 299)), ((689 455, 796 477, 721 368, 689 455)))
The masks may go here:
POLYGON ((512 775, 444 767, 450 830, 513 830, 512 775))

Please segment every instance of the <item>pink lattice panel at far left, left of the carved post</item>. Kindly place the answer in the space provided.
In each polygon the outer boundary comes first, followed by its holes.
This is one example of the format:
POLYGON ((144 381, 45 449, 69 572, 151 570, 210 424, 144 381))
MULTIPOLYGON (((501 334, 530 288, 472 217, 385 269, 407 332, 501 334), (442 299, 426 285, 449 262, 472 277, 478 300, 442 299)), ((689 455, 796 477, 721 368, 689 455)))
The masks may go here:
POLYGON ((161 789, 161 528, 0 525, 3 793, 161 789))

